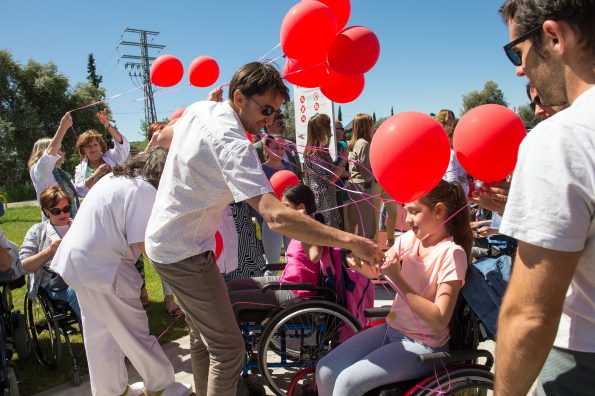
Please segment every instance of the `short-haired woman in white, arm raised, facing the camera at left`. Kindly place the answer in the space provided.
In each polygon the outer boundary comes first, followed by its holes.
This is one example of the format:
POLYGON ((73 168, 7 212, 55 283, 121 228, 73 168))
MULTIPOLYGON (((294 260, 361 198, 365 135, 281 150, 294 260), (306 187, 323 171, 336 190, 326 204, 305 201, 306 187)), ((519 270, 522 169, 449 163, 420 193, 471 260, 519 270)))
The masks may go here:
POLYGON ((81 197, 87 195, 89 189, 111 171, 111 167, 122 165, 130 154, 130 143, 109 123, 107 109, 98 112, 97 118, 114 139, 114 148, 108 150, 103 136, 92 129, 78 137, 76 151, 81 163, 75 169, 74 185, 81 197))

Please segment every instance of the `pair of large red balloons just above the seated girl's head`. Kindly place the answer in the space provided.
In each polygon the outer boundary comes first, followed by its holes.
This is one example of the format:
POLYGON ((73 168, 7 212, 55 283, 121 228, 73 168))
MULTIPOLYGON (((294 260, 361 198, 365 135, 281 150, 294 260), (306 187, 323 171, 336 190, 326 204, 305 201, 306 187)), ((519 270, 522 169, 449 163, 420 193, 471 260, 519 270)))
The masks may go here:
MULTIPOLYGON (((484 182, 496 182, 514 170, 526 134, 522 120, 512 110, 488 104, 461 117, 453 146, 469 174, 484 182)), ((394 115, 372 138, 372 172, 397 202, 412 202, 428 193, 444 176, 449 160, 446 131, 423 113, 394 115)))

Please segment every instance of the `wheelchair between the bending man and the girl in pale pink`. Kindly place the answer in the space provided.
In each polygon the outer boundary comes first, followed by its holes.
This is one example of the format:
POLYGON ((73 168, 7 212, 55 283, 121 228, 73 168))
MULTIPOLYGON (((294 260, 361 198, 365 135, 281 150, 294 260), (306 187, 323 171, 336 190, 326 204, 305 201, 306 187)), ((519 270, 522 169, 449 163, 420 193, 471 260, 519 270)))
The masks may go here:
MULTIPOLYGON (((273 264, 267 269, 280 270, 283 266, 273 264)), ((248 382, 250 372, 258 372, 274 394, 285 395, 296 373, 315 367, 320 358, 343 338, 358 332, 361 325, 337 303, 335 290, 328 286, 270 282, 262 291, 269 289, 316 292, 314 297, 295 298, 272 309, 242 310, 238 316, 246 346, 244 381, 248 382)), ((260 392, 264 394, 262 387, 260 392)))

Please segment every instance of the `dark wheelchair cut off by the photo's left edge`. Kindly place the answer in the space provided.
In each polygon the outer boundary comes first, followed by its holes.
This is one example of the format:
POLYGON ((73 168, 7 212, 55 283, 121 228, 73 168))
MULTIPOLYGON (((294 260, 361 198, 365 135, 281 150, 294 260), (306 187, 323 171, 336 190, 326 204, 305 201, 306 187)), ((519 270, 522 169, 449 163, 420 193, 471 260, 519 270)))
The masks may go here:
POLYGON ((25 316, 12 311, 12 289, 22 287, 23 278, 11 279, 11 272, 0 273, 0 391, 2 395, 18 396, 19 381, 11 359, 15 352, 19 359, 27 358, 30 346, 25 316))

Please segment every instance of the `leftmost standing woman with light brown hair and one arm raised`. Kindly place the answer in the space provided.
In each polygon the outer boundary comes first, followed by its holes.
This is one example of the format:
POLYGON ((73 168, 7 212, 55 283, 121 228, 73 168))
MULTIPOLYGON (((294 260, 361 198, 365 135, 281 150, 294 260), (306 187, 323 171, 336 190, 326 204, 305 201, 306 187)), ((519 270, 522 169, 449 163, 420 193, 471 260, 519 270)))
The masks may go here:
MULTIPOLYGON (((53 138, 42 138, 35 142, 27 167, 35 187, 37 200, 46 187, 58 185, 70 197, 71 215, 74 217, 78 209, 79 197, 72 183, 72 177, 60 168, 66 156, 64 147, 62 147, 62 139, 71 126, 72 116, 70 113, 66 113, 60 120, 60 126, 53 138)), ((46 220, 43 215, 42 220, 46 220)))

